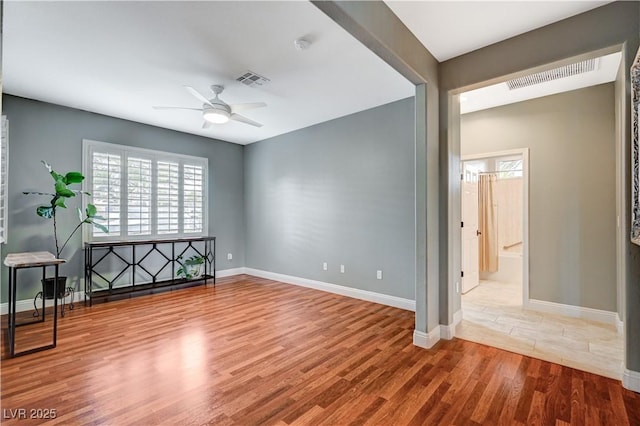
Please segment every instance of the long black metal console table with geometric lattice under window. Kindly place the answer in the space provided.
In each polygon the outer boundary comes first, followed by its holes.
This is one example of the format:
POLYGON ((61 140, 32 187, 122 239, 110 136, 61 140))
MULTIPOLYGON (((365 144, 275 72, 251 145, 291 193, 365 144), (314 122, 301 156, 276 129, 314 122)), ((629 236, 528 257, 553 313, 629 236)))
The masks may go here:
POLYGON ((85 304, 150 294, 172 288, 216 283, 216 237, 85 243, 85 304), (204 260, 203 274, 177 277, 184 258, 204 260))

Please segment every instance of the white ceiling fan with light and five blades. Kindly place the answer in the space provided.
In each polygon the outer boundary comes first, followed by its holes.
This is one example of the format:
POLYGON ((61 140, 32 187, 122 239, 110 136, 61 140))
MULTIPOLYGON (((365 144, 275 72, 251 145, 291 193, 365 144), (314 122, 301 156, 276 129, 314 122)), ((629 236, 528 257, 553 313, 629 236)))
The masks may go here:
POLYGON ((238 114, 239 111, 245 111, 253 108, 266 107, 264 102, 252 102, 246 104, 228 104, 219 98, 219 95, 224 90, 224 86, 214 84, 211 86, 211 91, 215 94, 212 99, 207 99, 200 94, 196 89, 191 86, 184 86, 185 89, 196 99, 202 102, 202 108, 187 108, 187 107, 170 107, 170 106, 154 106, 154 109, 187 109, 193 111, 202 112, 202 118, 204 123, 203 129, 208 129, 212 124, 224 124, 229 120, 238 121, 240 123, 249 124, 255 127, 262 127, 262 124, 257 121, 253 121, 243 115, 238 114))

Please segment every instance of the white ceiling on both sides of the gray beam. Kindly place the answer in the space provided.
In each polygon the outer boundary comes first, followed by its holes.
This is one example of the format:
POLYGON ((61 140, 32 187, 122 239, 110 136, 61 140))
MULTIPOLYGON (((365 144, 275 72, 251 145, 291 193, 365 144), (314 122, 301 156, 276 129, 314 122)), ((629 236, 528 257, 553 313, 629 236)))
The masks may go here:
MULTIPOLYGON (((608 2, 387 2, 439 60, 608 2), (482 17, 482 19, 478 19, 482 17)), ((4 2, 3 90, 246 144, 414 94, 413 85, 306 1, 4 2), (312 45, 298 51, 293 41, 312 45), (245 71, 271 81, 249 88, 245 71), (228 103, 266 102, 202 129, 182 86, 228 103)))

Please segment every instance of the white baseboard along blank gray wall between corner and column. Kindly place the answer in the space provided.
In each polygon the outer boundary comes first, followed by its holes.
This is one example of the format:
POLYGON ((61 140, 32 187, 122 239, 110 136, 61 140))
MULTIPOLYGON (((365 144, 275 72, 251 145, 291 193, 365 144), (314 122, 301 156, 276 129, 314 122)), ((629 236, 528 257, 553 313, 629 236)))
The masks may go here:
POLYGON ((360 290, 357 288, 345 287, 323 281, 310 280, 307 278, 294 277, 291 275, 277 274, 275 272, 262 271, 260 269, 245 268, 245 273, 260 278, 281 281, 287 284, 299 285, 301 287, 313 288, 316 290, 326 291, 328 293, 339 294, 341 296, 353 297, 355 299, 366 300, 368 302, 393 306, 394 308, 405 309, 407 311, 415 312, 416 310, 415 300, 404 299, 402 297, 389 296, 387 294, 360 290))

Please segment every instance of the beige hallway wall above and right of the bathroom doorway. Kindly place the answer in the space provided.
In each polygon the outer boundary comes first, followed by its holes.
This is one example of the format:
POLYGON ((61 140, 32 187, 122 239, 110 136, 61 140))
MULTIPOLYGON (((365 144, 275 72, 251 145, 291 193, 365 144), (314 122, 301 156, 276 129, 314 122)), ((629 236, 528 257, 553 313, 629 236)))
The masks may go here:
POLYGON ((616 311, 613 83, 464 114, 462 155, 529 148, 529 297, 616 311))

